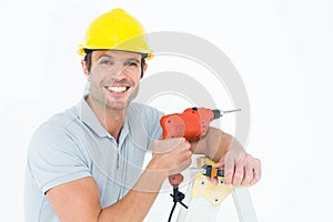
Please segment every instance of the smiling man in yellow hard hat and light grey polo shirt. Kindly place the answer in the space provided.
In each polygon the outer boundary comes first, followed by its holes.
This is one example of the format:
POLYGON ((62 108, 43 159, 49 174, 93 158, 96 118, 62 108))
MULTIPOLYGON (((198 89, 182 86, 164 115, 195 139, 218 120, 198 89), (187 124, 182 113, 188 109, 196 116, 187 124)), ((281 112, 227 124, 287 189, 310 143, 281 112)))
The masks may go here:
POLYGON ((200 142, 159 140, 163 113, 131 102, 152 58, 137 19, 122 9, 102 14, 79 53, 88 93, 42 124, 29 144, 27 221, 142 221, 163 181, 185 170, 192 153, 224 165, 228 184, 258 182, 260 161, 221 130, 210 128, 200 142))

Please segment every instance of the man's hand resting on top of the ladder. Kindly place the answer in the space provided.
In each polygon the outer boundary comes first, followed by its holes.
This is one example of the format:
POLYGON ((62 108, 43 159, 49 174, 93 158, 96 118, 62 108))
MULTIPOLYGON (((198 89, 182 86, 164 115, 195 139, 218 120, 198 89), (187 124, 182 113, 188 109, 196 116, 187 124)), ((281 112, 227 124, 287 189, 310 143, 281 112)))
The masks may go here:
POLYGON ((230 150, 214 167, 224 165, 224 184, 253 185, 261 179, 261 162, 245 151, 230 150))

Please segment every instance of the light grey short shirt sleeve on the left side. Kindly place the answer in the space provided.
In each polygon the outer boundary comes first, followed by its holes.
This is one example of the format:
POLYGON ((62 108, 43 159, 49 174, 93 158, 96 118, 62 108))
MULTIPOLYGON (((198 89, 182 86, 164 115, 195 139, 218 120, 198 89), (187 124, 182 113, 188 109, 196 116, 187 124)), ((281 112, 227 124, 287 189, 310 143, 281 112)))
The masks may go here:
POLYGON ((71 134, 59 125, 43 124, 33 134, 28 165, 43 193, 57 185, 90 176, 88 161, 71 134))

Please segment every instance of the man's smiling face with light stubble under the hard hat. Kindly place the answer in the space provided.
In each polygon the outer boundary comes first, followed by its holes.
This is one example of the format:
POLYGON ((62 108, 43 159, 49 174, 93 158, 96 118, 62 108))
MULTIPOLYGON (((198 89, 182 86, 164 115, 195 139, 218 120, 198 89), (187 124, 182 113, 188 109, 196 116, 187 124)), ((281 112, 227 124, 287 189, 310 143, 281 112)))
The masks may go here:
POLYGON ((91 61, 90 99, 109 109, 125 109, 139 91, 141 54, 98 50, 91 61))

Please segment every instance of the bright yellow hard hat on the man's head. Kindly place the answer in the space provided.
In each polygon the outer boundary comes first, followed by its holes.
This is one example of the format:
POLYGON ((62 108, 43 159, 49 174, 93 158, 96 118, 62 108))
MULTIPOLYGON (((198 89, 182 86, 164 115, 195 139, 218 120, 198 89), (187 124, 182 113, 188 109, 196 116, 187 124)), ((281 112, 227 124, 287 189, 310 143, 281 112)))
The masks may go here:
POLYGON ((131 51, 152 58, 142 24, 123 9, 113 9, 93 20, 78 53, 84 57, 85 50, 99 49, 131 51))

